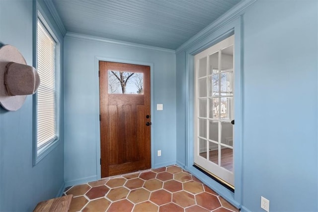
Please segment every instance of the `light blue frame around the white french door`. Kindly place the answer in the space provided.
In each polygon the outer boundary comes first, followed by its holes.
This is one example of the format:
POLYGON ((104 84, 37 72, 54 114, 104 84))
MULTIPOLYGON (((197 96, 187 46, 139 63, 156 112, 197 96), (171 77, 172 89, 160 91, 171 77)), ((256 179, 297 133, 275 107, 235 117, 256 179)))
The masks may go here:
POLYGON ((200 179, 203 183, 208 185, 223 198, 229 201, 231 204, 240 208, 242 202, 242 17, 239 16, 236 19, 231 20, 222 24, 222 26, 217 27, 215 30, 210 32, 209 35, 202 35, 193 45, 185 49, 185 90, 186 99, 185 102, 185 148, 186 148, 186 160, 184 168, 191 172, 194 176, 200 179), (235 64, 234 68, 236 70, 235 78, 235 92, 236 92, 236 102, 235 102, 235 151, 234 151, 234 170, 235 170, 235 192, 232 192, 220 185, 218 182, 212 180, 210 177, 205 175, 203 172, 199 171, 194 164, 194 55, 199 52, 213 46, 214 44, 220 42, 221 40, 235 34, 235 64))

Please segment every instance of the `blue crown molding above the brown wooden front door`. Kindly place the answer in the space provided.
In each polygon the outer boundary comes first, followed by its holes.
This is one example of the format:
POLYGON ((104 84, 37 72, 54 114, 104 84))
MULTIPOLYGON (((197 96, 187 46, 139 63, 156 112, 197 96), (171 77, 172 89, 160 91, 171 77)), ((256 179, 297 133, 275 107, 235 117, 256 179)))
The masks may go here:
POLYGON ((76 32, 67 32, 66 35, 64 36, 64 38, 90 41, 90 42, 95 42, 95 43, 111 44, 111 45, 116 45, 116 46, 125 46, 125 47, 136 48, 136 49, 155 50, 155 51, 168 52, 168 53, 175 54, 175 51, 172 49, 165 49, 165 48, 148 46, 148 45, 143 45, 143 44, 125 42, 125 41, 120 41, 120 40, 107 39, 104 37, 91 36, 91 35, 80 34, 80 33, 76 33, 76 32))

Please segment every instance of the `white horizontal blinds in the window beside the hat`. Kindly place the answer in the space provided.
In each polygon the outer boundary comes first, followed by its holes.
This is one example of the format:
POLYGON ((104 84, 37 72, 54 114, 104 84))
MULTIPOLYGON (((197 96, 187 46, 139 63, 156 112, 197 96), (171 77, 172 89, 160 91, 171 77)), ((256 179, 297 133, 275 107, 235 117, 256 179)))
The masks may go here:
POLYGON ((37 92, 37 149, 39 150, 56 140, 58 132, 56 114, 56 42, 39 19, 37 26, 37 71, 41 78, 41 85, 37 92))

